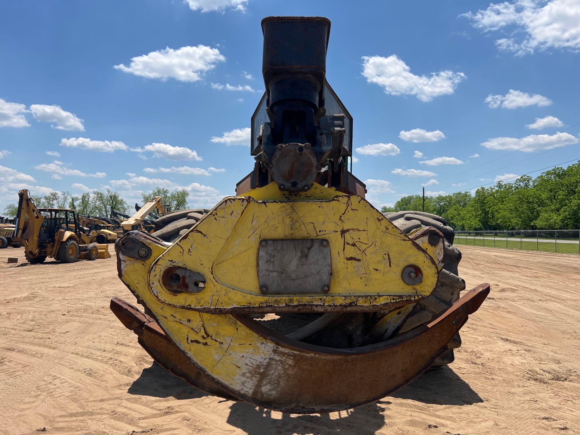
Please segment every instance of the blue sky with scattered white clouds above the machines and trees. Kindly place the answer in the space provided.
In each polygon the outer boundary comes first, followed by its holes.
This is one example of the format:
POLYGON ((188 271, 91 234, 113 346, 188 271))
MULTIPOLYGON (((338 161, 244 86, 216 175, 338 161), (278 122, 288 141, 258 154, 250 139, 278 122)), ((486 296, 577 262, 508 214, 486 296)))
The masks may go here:
POLYGON ((580 157, 580 0, 23 0, 0 4, 0 211, 25 187, 233 194, 269 15, 332 21, 327 79, 376 206, 580 157))

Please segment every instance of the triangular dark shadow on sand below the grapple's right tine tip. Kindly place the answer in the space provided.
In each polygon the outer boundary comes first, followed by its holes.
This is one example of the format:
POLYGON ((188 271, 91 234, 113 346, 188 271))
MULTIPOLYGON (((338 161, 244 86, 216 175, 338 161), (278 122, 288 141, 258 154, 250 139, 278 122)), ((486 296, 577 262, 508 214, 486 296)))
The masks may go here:
POLYGON ((452 368, 427 370, 392 397, 436 405, 472 405, 483 399, 452 368))

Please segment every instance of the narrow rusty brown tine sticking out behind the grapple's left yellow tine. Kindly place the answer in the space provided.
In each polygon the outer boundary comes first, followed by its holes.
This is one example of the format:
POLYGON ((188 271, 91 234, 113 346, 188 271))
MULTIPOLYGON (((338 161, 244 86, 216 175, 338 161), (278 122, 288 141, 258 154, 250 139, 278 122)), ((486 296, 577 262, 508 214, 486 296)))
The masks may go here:
POLYGON ((136 306, 121 298, 111 299, 110 308, 125 328, 135 332, 138 337, 137 342, 161 367, 198 390, 230 400, 238 400, 200 371, 165 335, 154 318, 142 313, 136 306))

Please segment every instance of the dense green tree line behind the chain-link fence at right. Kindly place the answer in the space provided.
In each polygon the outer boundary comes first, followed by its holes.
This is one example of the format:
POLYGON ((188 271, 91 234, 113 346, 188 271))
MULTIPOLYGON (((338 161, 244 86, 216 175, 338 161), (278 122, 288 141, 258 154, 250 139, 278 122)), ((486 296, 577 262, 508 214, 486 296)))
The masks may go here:
MULTIPOLYGON (((421 211, 422 195, 408 195, 382 212, 421 211)), ((580 161, 532 179, 425 198, 425 211, 447 219, 455 230, 580 229, 580 161)))

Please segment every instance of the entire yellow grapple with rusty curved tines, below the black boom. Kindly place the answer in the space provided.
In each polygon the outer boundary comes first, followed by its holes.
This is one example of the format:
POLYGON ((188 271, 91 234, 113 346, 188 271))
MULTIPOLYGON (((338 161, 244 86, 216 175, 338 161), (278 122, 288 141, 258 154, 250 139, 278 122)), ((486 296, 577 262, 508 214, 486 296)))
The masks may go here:
POLYGON ((156 361, 201 390, 285 412, 339 411, 411 382, 483 303, 487 284, 397 333, 436 288, 444 243, 434 228, 404 234, 357 195, 274 183, 225 198, 171 246, 124 235, 119 277, 147 314, 117 298, 111 309, 156 361), (252 318, 305 311, 326 314, 287 335, 252 318), (340 334, 348 316, 376 320, 362 345, 317 342, 333 325, 340 334))

